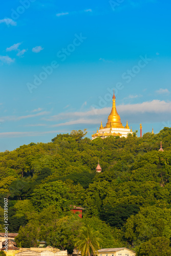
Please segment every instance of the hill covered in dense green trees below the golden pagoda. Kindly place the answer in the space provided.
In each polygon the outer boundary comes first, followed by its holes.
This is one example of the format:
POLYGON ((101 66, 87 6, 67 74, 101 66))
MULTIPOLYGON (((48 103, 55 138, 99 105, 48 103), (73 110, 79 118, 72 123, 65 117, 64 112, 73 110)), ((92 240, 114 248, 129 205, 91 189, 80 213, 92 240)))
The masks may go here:
POLYGON ((1 232, 5 197, 9 232, 20 230, 17 243, 23 247, 36 246, 38 239, 70 252, 80 227, 90 223, 100 232, 101 248, 136 249, 157 243, 158 237, 167 248, 171 128, 142 138, 136 133, 93 141, 85 136, 85 131, 72 131, 50 143, 0 153, 1 232), (160 141, 164 152, 159 152, 160 141), (71 213, 71 205, 84 208, 82 220, 71 213))

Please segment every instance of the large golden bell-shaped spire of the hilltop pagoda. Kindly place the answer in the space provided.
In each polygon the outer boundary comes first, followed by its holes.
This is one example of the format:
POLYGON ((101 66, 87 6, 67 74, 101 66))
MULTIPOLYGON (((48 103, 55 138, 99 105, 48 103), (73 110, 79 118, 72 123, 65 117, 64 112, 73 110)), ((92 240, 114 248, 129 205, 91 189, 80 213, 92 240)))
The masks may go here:
POLYGON ((104 128, 110 128, 112 125, 113 128, 124 128, 124 126, 121 123, 120 116, 116 110, 116 97, 115 93, 113 95, 113 105, 112 105, 112 111, 111 114, 108 117, 108 122, 106 123, 106 126, 104 128))

